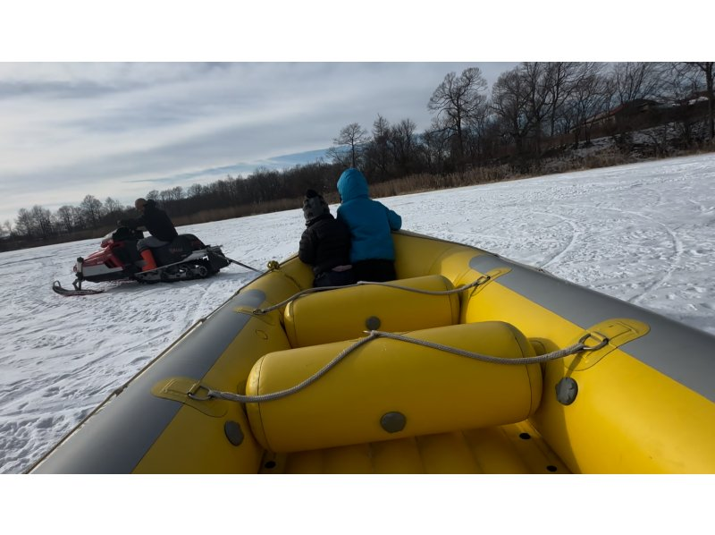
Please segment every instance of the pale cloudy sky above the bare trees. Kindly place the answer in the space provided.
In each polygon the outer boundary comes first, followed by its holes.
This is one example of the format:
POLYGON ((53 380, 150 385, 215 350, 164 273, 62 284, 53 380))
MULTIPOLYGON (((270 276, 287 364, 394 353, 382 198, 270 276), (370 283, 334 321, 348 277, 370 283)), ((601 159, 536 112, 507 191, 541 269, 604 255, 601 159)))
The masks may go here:
MULTIPOLYGON (((424 130, 448 72, 493 81, 514 63, 3 63, 0 222, 85 195, 150 190, 290 165, 378 114, 424 130)), ((309 160, 315 160, 312 153, 309 160)))

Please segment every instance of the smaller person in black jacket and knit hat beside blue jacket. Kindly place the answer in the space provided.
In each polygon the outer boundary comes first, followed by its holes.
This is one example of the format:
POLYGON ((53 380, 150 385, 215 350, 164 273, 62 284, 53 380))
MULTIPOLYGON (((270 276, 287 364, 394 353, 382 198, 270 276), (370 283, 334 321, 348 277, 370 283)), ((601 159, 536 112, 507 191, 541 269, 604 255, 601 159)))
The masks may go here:
POLYGON ((306 191, 303 216, 307 228, 300 237, 298 258, 313 267, 313 285, 353 284, 348 227, 332 217, 327 203, 315 190, 306 191))

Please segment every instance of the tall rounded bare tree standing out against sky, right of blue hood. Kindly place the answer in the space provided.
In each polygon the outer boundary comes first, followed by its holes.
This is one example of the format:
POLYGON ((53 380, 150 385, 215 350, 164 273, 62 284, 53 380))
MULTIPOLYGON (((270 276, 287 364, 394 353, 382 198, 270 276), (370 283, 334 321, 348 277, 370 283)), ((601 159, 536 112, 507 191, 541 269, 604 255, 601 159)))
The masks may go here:
POLYGON ((484 90, 487 83, 478 67, 465 69, 459 76, 450 72, 442 83, 434 89, 427 103, 427 109, 436 113, 440 128, 454 138, 458 161, 465 154, 465 133, 467 122, 486 100, 484 90))

